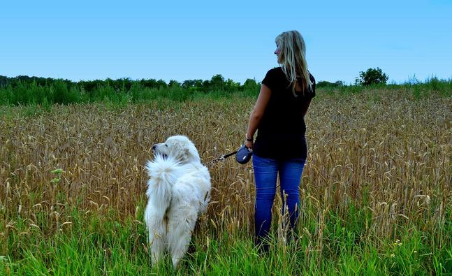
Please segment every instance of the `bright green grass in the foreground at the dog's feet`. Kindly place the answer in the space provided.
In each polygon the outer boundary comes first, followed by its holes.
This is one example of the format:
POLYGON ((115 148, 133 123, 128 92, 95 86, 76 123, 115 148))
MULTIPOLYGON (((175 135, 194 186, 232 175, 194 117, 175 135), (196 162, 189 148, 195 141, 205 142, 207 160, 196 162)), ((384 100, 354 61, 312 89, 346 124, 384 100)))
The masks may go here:
MULTIPOLYGON (((140 210, 143 210, 143 201, 140 210)), ((451 210, 448 210, 450 213, 451 210)), ((274 221, 270 252, 260 253, 249 229, 234 235, 206 228, 201 219, 180 268, 166 257, 152 267, 147 254, 143 214, 125 221, 115 210, 103 215, 73 209, 71 223, 46 229, 45 221, 26 228, 16 220, 0 259, 1 275, 448 275, 452 272, 452 225, 437 236, 416 227, 394 239, 366 235, 365 210, 349 209, 348 221, 328 212, 322 245, 316 221, 300 225, 287 242, 274 221)), ((450 217, 450 216, 449 216, 450 217)), ((277 219, 277 218, 276 218, 277 219)), ((275 219, 275 220, 276 220, 275 219)), ((7 230, 6 230, 7 231, 7 230)), ((3 250, 2 250, 3 251, 3 250)))

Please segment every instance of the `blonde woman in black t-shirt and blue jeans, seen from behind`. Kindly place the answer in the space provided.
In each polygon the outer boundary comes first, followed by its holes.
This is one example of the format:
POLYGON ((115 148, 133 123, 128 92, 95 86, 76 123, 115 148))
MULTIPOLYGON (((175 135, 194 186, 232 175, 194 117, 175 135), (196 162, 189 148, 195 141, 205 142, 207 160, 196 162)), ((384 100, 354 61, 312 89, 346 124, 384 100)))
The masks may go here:
MULTIPOLYGON (((278 64, 262 81, 249 117, 245 145, 253 149, 256 202, 255 234, 258 244, 268 237, 277 174, 291 229, 298 219, 299 185, 307 157, 305 114, 315 96, 315 80, 307 71, 305 41, 298 31, 284 31, 275 39, 278 64), (254 142, 254 133, 258 131, 254 142), (286 202, 285 202, 286 201, 286 202)), ((268 244, 263 243, 268 251, 268 244)))

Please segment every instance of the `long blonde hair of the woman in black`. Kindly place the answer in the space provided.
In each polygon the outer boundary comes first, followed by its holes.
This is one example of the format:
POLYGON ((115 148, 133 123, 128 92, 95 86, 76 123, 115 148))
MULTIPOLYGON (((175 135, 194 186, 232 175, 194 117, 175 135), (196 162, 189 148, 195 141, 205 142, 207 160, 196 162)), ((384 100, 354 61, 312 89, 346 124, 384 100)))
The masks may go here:
POLYGON ((287 80, 291 82, 293 95, 296 96, 295 87, 297 77, 301 79, 303 92, 311 88, 311 80, 307 71, 305 40, 298 31, 284 31, 275 38, 279 47, 278 63, 287 80))

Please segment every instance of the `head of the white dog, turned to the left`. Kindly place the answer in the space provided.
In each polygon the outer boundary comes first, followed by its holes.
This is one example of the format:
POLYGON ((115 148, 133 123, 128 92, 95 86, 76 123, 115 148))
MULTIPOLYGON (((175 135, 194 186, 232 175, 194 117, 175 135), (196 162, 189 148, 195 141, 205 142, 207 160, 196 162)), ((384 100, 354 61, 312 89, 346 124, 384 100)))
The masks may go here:
POLYGON ((186 136, 170 136, 165 143, 153 145, 152 150, 154 150, 154 154, 159 154, 163 158, 172 157, 181 164, 201 162, 194 143, 186 136))

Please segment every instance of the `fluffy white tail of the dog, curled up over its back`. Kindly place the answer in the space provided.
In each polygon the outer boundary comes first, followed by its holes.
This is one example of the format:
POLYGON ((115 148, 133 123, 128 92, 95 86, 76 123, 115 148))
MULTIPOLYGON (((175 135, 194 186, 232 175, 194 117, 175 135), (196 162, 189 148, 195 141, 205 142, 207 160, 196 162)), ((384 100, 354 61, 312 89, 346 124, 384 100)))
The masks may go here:
POLYGON ((156 204, 156 207, 166 210, 170 203, 173 189, 173 183, 179 177, 180 166, 173 158, 164 159, 157 155, 154 161, 147 161, 147 197, 156 204))

